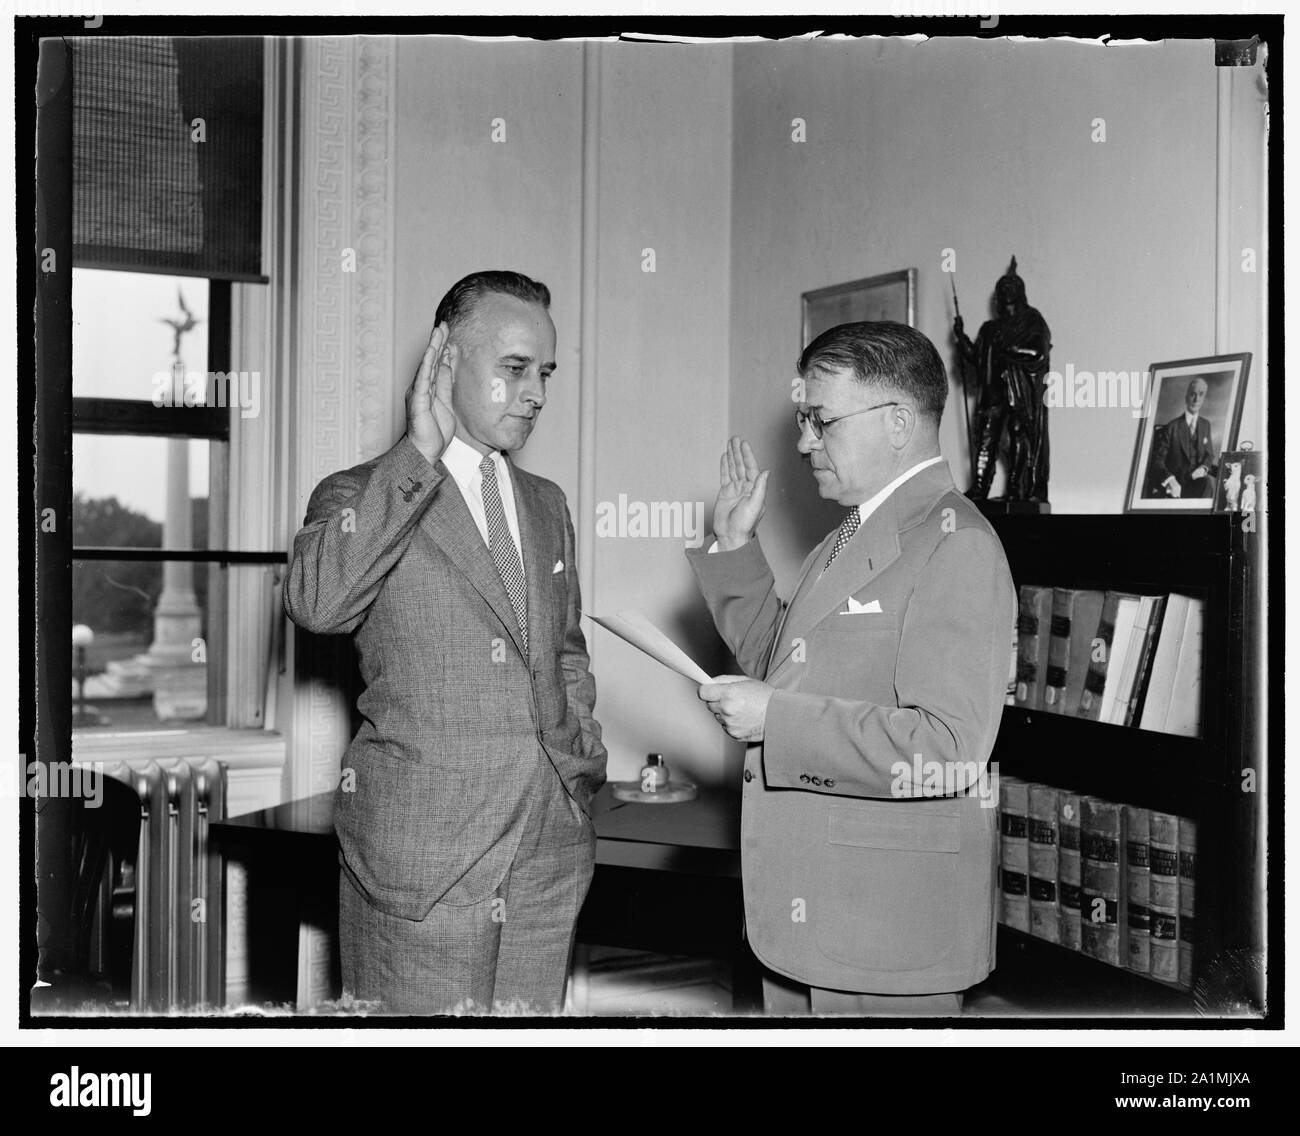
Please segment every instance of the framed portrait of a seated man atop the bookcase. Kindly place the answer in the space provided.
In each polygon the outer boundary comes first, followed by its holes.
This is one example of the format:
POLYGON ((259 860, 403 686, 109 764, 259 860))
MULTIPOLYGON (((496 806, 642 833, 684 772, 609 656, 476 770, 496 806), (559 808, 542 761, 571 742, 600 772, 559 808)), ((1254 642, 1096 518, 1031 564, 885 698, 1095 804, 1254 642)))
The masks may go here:
POLYGON ((1124 512, 1214 512, 1249 369, 1249 352, 1152 364, 1124 512))

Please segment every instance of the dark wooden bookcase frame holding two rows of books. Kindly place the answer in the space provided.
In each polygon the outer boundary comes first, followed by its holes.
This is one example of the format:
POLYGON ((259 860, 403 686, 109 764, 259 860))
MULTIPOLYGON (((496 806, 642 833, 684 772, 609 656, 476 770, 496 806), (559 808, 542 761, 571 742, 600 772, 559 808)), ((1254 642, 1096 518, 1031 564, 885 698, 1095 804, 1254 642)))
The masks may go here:
POLYGON ((992 517, 1015 578, 1058 587, 1182 591, 1205 599, 1201 736, 1154 733, 1008 706, 1001 773, 1197 823, 1197 919, 1190 990, 998 928, 996 987, 1034 1006, 1044 983, 1057 1015, 1232 1018, 1264 1009, 1265 771, 1243 792, 1261 738, 1257 649, 1260 533, 1234 515, 992 517), (1072 1002, 1062 1005, 1061 989, 1072 1002))

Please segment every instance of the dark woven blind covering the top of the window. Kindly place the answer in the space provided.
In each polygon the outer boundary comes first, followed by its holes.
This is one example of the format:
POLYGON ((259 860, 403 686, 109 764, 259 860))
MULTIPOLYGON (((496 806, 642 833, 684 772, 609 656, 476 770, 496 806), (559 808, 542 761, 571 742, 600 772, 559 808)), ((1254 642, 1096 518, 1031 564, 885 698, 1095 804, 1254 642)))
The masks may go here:
POLYGON ((263 40, 70 43, 74 264, 264 279, 263 40))

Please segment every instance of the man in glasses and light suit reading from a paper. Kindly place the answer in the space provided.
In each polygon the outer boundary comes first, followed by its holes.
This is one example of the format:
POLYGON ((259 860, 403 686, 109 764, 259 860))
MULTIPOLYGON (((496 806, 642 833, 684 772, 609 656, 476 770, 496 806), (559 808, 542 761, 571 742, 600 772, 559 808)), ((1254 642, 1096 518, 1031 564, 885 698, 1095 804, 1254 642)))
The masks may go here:
POLYGON ((948 378, 901 324, 805 350, 798 450, 849 508, 788 606, 755 528, 767 471, 732 438, 715 545, 688 551, 746 677, 699 689, 745 756, 750 946, 771 1013, 952 1015, 994 961, 987 763, 1015 591, 988 521, 939 454, 948 378))

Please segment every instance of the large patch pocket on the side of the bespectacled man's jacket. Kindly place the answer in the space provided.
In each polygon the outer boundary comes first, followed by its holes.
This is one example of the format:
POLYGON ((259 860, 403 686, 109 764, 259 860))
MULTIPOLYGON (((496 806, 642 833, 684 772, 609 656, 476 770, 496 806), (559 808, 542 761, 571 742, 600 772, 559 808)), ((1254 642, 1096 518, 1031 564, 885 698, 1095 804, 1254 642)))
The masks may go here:
POLYGON ((961 805, 831 805, 816 909, 818 949, 863 970, 936 966, 957 942, 961 805))

